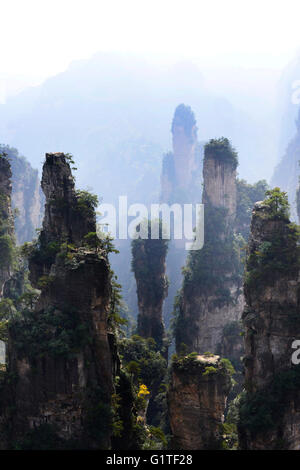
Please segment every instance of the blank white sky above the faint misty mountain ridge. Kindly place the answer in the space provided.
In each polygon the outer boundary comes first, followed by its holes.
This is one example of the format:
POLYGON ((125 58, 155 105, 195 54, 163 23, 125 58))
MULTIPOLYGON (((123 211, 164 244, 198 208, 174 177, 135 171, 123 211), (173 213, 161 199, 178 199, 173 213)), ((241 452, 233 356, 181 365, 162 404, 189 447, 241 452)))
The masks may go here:
POLYGON ((36 81, 98 51, 282 68, 299 0, 0 0, 0 82, 36 81))

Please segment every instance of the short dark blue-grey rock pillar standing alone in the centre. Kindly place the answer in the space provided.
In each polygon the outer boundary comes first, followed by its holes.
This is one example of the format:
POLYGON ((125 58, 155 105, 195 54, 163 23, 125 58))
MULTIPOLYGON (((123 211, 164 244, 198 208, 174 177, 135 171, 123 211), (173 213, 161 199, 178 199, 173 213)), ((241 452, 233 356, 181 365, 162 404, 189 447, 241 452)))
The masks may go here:
POLYGON ((163 239, 137 239, 132 242, 132 267, 138 296, 138 334, 154 338, 163 346, 163 302, 168 292, 165 275, 167 241, 163 239))

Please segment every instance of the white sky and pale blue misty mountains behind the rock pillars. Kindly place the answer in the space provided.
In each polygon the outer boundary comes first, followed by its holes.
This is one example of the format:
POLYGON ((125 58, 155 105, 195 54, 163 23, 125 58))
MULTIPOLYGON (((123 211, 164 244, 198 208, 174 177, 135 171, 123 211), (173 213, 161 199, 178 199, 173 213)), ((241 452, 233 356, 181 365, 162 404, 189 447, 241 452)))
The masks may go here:
MULTIPOLYGON (((46 152, 72 153, 77 186, 103 202, 158 202, 184 103, 200 142, 229 138, 239 177, 279 184, 293 204, 300 138, 286 149, 297 134, 299 10, 292 0, 2 4, 0 143, 39 172, 46 152)), ((134 292, 128 245, 119 259, 134 292)))

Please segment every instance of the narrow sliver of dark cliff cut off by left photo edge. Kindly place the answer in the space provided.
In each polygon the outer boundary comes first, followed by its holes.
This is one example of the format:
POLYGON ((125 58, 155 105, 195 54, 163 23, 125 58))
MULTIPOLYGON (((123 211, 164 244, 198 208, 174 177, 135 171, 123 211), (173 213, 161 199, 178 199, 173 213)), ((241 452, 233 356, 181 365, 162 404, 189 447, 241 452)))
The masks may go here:
POLYGON ((12 270, 13 215, 11 209, 11 167, 9 161, 0 156, 0 296, 12 270))

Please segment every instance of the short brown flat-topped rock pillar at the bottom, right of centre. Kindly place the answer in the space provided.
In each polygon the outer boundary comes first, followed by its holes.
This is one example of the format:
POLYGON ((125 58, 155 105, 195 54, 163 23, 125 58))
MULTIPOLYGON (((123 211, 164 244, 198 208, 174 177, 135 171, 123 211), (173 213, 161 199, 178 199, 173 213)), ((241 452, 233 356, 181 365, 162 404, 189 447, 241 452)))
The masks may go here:
POLYGON ((222 447, 222 423, 230 373, 219 356, 194 356, 173 362, 168 392, 172 448, 222 447))

